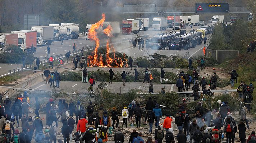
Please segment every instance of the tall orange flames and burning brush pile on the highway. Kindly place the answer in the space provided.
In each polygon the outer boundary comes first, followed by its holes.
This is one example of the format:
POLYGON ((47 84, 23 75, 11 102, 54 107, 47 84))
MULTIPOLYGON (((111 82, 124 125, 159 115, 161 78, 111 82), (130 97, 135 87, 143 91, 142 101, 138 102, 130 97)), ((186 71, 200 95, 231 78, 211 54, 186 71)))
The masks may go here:
POLYGON ((97 23, 93 24, 89 30, 88 37, 95 41, 95 50, 87 58, 87 66, 97 66, 97 67, 124 67, 124 61, 127 59, 127 55, 124 53, 115 52, 114 46, 110 44, 110 38, 113 36, 111 31, 112 27, 108 25, 103 33, 108 36, 106 43, 106 53, 100 53, 98 51, 100 47, 100 40, 97 36, 97 30, 102 26, 105 21, 105 14, 102 14, 102 19, 97 23), (112 51, 112 53, 110 53, 112 51))

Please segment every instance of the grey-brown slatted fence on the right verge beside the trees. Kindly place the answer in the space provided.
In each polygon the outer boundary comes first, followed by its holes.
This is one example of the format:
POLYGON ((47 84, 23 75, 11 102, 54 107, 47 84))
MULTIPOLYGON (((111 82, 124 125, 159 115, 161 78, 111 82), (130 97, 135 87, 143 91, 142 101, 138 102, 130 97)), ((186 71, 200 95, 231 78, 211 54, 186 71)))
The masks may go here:
POLYGON ((212 56, 218 63, 223 63, 226 59, 234 58, 239 55, 236 50, 211 50, 206 49, 206 56, 212 56))

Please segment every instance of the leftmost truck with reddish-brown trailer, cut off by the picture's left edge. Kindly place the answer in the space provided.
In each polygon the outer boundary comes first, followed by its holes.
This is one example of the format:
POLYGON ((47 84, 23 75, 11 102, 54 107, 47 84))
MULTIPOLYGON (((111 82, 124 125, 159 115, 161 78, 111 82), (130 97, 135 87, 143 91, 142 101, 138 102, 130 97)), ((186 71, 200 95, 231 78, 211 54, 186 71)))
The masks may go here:
POLYGON ((0 33, 0 50, 10 45, 18 46, 18 33, 0 33))

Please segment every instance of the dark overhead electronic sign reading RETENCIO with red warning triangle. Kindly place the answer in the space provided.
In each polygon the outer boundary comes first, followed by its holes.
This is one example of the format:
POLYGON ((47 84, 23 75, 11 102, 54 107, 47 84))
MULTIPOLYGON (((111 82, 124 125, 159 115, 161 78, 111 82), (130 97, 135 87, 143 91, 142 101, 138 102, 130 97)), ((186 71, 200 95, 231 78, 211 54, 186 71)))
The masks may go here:
POLYGON ((196 13, 228 13, 228 3, 197 3, 196 13))

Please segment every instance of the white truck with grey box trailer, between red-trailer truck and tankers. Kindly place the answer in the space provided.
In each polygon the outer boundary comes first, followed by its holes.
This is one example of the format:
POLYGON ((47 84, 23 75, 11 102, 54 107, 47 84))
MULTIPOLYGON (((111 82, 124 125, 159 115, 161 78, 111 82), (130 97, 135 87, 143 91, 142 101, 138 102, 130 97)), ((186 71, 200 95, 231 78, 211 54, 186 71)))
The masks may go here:
POLYGON ((53 26, 32 26, 31 30, 36 30, 36 45, 51 45, 53 41, 53 26))

